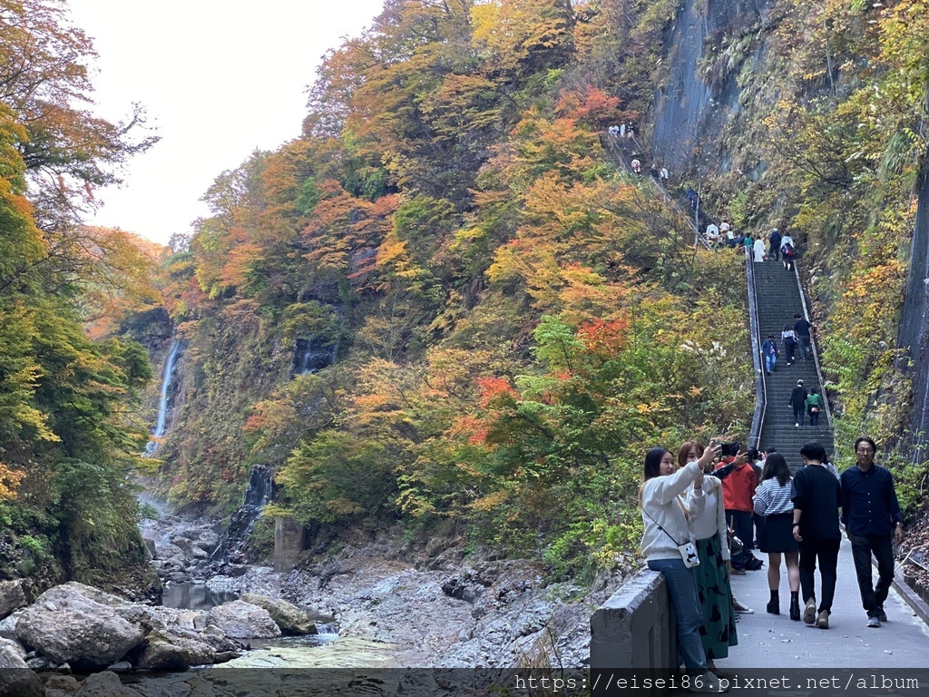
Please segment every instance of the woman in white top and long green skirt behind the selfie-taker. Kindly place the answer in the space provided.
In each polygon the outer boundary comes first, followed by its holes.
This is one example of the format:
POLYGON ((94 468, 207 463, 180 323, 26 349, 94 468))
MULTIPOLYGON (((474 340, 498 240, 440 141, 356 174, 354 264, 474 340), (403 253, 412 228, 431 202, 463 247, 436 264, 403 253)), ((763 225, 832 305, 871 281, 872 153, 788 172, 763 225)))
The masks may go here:
MULTIPOLYGON (((706 449, 698 441, 687 441, 677 451, 677 464, 687 467, 698 462, 706 449)), ((695 494, 691 489, 688 498, 695 494)), ((736 612, 732 602, 732 585, 726 562, 729 561, 729 544, 726 539, 726 505, 723 502, 723 482, 716 477, 703 480, 705 505, 700 514, 693 516, 694 534, 697 537, 697 554, 700 565, 694 567, 697 594, 703 609, 700 641, 706 654, 707 666, 715 669, 713 661, 726 658, 729 647, 739 643, 736 633, 736 612)))

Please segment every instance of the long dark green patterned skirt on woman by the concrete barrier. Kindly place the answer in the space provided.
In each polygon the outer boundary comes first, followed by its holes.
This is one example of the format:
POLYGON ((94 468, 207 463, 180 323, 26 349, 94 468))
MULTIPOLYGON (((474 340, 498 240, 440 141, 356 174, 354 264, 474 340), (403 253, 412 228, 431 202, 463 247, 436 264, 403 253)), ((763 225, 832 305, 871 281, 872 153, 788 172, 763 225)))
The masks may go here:
POLYGON ((708 659, 726 658, 729 647, 739 643, 736 635, 736 612, 732 609, 732 586, 719 534, 697 540, 700 565, 694 567, 697 590, 703 606, 703 624, 700 625, 700 640, 708 659))

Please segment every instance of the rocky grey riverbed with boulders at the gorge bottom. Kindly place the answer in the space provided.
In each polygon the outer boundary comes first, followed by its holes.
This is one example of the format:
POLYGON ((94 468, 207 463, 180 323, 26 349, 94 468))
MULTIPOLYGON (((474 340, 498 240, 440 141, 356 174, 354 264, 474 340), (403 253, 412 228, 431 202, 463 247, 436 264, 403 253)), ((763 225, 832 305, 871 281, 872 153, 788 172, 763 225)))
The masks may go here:
POLYGON ((205 683, 228 682, 229 675, 260 673, 229 674, 225 667, 285 673, 345 666, 582 667, 592 612, 637 563, 622 560, 617 571, 584 588, 546 580, 533 560, 465 558, 462 544, 452 541, 417 550, 381 533, 317 549, 315 556, 307 552, 294 571, 276 573, 211 559, 220 535, 207 521, 164 516, 142 530, 169 589, 203 584, 213 597, 239 599, 198 612, 129 602, 72 583, 22 607, 21 591, 0 588, 0 616, 6 617, 0 661, 31 669, 11 673, 22 682, 13 691, 0 685, 0 697, 185 697, 205 683), (325 637, 281 638, 312 635, 318 618, 327 620, 325 637), (177 673, 203 664, 217 665, 177 673), (96 673, 81 680, 72 671, 96 673), (122 685, 113 681, 117 673, 122 685))

